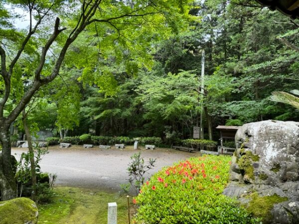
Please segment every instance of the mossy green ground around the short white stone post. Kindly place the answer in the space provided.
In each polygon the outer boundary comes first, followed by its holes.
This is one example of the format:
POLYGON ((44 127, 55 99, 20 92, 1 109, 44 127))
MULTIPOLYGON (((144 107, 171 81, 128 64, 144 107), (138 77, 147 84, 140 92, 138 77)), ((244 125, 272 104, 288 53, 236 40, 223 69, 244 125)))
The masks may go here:
POLYGON ((107 224, 110 202, 117 203, 118 224, 128 224, 125 196, 69 187, 58 187, 54 192, 51 203, 38 205, 39 224, 107 224))

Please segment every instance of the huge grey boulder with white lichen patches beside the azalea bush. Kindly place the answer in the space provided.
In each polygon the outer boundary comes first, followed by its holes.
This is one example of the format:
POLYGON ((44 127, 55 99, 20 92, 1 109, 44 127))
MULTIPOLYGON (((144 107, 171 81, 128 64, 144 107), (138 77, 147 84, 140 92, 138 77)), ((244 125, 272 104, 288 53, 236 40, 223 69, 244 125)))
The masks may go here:
POLYGON ((265 223, 299 223, 299 122, 266 120, 244 124, 235 142, 232 182, 224 194, 241 202, 252 192, 258 194, 260 201, 275 199, 271 202, 271 220, 265 223))

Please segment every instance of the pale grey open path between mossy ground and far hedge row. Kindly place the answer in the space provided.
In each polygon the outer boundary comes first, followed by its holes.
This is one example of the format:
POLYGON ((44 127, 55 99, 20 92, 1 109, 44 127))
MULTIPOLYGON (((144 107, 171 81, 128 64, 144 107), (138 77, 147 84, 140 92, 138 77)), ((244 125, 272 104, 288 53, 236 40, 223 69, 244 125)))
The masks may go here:
MULTIPOLYGON (((12 148, 11 153, 18 156, 23 151, 26 149, 12 148)), ((138 151, 141 151, 146 162, 149 158, 156 158, 155 166, 149 175, 176 161, 199 155, 198 152, 189 153, 164 148, 138 151)), ((59 146, 51 146, 40 166, 42 172, 57 174, 56 186, 99 188, 117 192, 120 190, 120 184, 128 183, 128 163, 130 156, 136 152, 133 146, 127 146, 123 150, 103 150, 98 147, 83 149, 83 146, 61 149, 59 146)))

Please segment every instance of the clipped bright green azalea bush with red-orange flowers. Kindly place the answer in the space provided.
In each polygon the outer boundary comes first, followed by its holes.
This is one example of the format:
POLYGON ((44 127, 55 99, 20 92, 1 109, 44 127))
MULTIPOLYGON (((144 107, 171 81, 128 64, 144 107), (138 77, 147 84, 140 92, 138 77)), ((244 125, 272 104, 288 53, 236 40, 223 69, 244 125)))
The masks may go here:
POLYGON ((222 195, 231 157, 206 155, 163 168, 133 199, 137 224, 250 224, 237 202, 222 195))

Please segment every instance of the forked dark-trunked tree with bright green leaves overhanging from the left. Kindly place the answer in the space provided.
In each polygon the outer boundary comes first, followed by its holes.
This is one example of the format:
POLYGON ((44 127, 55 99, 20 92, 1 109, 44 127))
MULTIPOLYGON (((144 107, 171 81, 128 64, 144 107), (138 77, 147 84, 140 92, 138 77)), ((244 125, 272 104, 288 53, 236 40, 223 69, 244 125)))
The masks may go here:
MULTIPOLYGON (((94 35, 100 40, 98 44, 101 42, 100 49, 103 50, 99 51, 100 56, 108 59, 108 52, 114 50, 114 55, 128 61, 128 68, 132 70, 135 67, 132 63, 143 66, 139 53, 147 52, 137 40, 143 40, 145 43, 154 38, 163 38, 171 30, 178 31, 178 28, 184 25, 182 16, 190 17, 187 8, 187 0, 171 2, 163 0, 1 1, 1 200, 16 196, 15 179, 10 162, 9 126, 32 96, 59 75, 67 51, 75 46, 80 33, 94 26, 97 31, 94 35), (3 7, 3 3, 13 4, 27 11, 30 16, 28 30, 16 29, 9 22, 5 22, 11 17, 11 13, 3 7), (156 34, 150 34, 151 31, 156 34), (137 37, 137 33, 148 35, 147 38, 140 37, 136 38, 136 41, 131 41, 130 35, 137 37), (118 49, 128 49, 128 51, 118 49), (29 88, 24 91, 24 87, 29 88), (19 98, 15 97, 17 95, 19 98), (8 107, 10 99, 17 99, 12 102, 11 108, 8 107)), ((85 67, 86 72, 83 74, 87 76, 87 80, 95 71, 90 68, 93 66, 85 67)))

